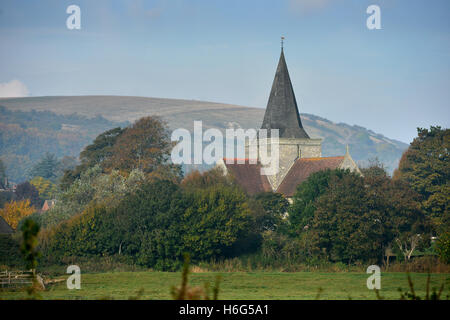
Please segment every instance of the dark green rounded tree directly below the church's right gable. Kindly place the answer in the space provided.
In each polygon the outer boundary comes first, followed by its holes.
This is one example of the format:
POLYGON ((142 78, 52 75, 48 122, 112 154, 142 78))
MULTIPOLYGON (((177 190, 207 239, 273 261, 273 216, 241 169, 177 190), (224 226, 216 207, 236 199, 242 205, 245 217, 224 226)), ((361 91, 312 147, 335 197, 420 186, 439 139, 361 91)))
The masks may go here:
POLYGON ((382 257, 381 213, 365 205, 362 177, 330 177, 328 190, 315 203, 311 224, 317 246, 331 261, 352 263, 382 257))

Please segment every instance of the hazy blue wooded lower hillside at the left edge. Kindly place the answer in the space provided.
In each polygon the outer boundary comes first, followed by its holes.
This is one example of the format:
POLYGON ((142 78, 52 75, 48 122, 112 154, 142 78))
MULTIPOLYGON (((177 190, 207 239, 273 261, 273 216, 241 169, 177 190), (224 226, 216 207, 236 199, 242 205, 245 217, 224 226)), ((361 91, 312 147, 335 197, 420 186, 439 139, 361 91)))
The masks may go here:
POLYGON ((99 133, 126 125, 126 121, 110 121, 102 116, 12 111, 0 105, 0 159, 9 180, 22 182, 31 178, 30 169, 46 152, 60 159, 66 157, 64 163, 68 165, 99 133))

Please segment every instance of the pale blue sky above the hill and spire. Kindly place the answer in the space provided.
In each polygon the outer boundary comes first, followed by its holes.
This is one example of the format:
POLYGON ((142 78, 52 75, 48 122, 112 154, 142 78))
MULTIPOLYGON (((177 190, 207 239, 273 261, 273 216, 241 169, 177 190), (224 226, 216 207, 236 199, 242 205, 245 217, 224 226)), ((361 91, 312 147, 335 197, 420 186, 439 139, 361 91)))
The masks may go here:
POLYGON ((448 0, 2 0, 0 97, 265 108, 281 35, 301 113, 406 143, 417 127, 449 127, 448 0), (79 30, 66 26, 72 4, 79 30), (378 30, 366 26, 373 4, 378 30))

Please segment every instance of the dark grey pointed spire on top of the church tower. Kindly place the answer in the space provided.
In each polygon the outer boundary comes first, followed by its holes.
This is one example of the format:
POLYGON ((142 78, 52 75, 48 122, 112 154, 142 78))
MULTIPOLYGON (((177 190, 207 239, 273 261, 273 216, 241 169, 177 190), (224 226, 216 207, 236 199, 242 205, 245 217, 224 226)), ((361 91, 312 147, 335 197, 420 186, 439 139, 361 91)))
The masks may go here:
POLYGON ((309 138, 300 120, 283 49, 261 128, 279 129, 280 138, 309 138))

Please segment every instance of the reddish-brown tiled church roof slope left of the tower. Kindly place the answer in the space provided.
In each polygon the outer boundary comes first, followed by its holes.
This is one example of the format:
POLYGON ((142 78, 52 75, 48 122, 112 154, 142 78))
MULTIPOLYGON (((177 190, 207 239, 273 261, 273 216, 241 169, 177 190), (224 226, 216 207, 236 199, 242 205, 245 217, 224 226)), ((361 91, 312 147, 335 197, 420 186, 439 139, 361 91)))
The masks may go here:
POLYGON ((233 164, 227 164, 226 159, 224 163, 228 173, 249 195, 272 191, 267 176, 261 175, 260 163, 250 164, 248 159, 245 159, 244 164, 238 164, 236 161, 233 164))

